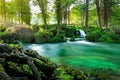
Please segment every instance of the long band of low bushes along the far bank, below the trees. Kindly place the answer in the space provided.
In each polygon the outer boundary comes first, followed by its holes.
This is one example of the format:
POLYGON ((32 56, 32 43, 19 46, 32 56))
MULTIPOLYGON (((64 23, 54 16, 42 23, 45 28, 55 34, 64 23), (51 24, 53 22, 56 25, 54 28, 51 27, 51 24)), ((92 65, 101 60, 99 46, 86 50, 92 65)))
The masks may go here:
POLYGON ((84 36, 81 35, 81 27, 66 26, 62 27, 60 33, 57 33, 56 25, 49 25, 49 29, 45 30, 42 26, 16 26, 16 27, 1 27, 0 26, 0 43, 59 43, 66 42, 67 38, 70 41, 80 39, 81 37, 90 42, 105 42, 105 43, 120 43, 120 29, 111 29, 108 32, 100 31, 97 27, 90 27, 86 32, 84 29, 84 36), (52 27, 54 26, 54 28, 52 27))

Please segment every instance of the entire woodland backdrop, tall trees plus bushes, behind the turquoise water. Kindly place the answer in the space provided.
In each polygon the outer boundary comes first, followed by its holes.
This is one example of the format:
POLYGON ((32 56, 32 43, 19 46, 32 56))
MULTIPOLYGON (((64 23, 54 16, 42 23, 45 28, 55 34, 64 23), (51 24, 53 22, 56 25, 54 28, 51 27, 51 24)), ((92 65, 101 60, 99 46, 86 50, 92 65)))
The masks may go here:
POLYGON ((0 37, 4 42, 61 42, 74 40, 76 29, 84 29, 90 41, 120 42, 119 13, 119 0, 0 0, 0 37), (27 29, 20 30, 23 26, 27 29))

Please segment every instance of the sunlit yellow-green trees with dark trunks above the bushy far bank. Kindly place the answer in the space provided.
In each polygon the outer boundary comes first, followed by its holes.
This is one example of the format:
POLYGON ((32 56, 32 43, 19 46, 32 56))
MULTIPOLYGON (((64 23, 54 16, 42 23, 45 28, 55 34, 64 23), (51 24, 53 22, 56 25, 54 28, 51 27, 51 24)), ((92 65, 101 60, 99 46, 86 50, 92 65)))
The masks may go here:
POLYGON ((110 27, 119 25, 119 11, 119 0, 0 0, 1 23, 86 26, 88 16, 89 25, 110 27))

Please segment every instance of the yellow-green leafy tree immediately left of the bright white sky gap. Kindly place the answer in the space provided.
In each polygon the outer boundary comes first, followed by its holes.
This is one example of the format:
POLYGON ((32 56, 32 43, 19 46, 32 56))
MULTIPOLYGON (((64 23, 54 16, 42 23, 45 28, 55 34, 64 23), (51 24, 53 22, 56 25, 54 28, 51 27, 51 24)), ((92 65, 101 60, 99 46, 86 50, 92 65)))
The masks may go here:
POLYGON ((16 4, 14 6, 16 9, 16 15, 18 16, 18 21, 20 24, 30 24, 31 12, 29 1, 30 0, 14 0, 14 4, 16 4))

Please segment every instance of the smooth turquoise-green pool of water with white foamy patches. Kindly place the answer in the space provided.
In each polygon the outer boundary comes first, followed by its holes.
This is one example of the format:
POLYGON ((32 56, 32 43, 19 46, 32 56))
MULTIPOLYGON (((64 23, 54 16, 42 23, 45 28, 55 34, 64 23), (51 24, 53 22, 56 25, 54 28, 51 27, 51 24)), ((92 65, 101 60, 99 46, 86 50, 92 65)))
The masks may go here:
POLYGON ((56 44, 26 44, 53 62, 72 68, 93 70, 112 69, 120 72, 120 44, 76 41, 56 44))

